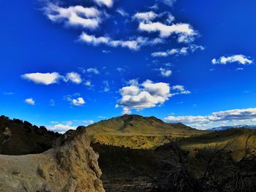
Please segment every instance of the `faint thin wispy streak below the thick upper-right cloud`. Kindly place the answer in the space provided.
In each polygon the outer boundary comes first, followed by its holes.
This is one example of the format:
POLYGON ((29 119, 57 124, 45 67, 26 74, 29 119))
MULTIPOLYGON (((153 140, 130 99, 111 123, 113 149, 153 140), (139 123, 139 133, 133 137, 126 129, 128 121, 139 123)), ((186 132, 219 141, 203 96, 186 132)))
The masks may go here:
POLYGON ((205 47, 201 45, 189 45, 188 47, 182 47, 181 49, 171 49, 166 51, 151 53, 152 57, 167 57, 170 55, 187 55, 190 52, 195 52, 196 50, 204 50, 205 47))

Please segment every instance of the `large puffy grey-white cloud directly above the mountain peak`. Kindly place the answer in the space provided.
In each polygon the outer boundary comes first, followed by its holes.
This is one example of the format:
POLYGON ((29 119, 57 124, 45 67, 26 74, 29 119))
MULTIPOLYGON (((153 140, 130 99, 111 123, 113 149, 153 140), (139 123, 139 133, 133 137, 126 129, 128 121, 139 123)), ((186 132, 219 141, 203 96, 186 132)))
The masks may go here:
POLYGON ((132 85, 121 88, 121 99, 118 100, 116 107, 123 107, 124 113, 130 110, 143 110, 145 108, 156 107, 169 99, 170 85, 165 82, 152 82, 146 80, 141 85, 135 81, 132 85))

